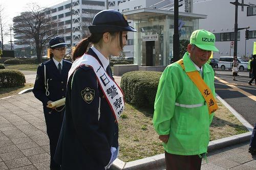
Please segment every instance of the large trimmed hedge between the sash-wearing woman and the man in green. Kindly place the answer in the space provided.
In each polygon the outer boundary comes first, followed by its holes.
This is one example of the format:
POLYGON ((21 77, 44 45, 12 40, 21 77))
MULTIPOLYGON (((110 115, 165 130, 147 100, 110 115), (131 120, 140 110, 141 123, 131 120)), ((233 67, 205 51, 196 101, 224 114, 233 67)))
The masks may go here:
POLYGON ((123 74, 121 88, 124 99, 137 107, 154 109, 154 103, 162 72, 158 71, 131 71, 123 74))

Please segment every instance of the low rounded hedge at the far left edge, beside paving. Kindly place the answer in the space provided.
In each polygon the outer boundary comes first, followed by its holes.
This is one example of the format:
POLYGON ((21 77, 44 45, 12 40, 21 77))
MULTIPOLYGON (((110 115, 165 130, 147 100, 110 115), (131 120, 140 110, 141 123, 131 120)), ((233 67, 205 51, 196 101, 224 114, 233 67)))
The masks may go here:
POLYGON ((25 76, 16 69, 0 69, 0 87, 19 87, 26 83, 25 76))

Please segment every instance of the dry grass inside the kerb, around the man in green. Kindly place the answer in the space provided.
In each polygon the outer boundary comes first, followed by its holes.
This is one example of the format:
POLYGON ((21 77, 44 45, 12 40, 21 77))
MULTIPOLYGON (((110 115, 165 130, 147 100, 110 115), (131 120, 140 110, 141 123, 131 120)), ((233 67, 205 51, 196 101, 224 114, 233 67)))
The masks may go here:
MULTIPOLYGON (((219 100, 217 101, 219 109, 212 120, 210 140, 248 132, 242 123, 219 100)), ((164 153, 152 119, 152 111, 139 110, 125 104, 124 113, 119 120, 119 159, 129 162, 164 153)))

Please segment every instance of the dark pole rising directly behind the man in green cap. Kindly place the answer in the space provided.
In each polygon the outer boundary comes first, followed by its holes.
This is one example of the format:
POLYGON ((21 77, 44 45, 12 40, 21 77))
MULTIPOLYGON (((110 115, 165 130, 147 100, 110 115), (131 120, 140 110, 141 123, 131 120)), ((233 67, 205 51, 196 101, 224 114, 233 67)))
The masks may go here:
POLYGON ((180 59, 180 37, 179 37, 179 1, 174 1, 174 62, 180 59))

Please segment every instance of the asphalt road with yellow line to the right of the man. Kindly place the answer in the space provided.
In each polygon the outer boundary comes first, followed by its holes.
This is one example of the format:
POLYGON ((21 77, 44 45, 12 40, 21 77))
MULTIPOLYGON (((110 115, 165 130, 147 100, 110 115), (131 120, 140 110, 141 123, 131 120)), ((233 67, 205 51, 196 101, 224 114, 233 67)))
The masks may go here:
POLYGON ((239 72, 238 81, 233 81, 232 71, 216 70, 215 88, 234 110, 241 114, 251 125, 256 123, 256 85, 250 86, 248 72, 239 72))

